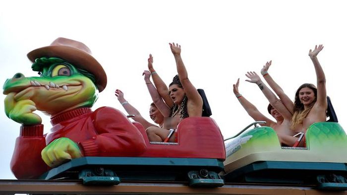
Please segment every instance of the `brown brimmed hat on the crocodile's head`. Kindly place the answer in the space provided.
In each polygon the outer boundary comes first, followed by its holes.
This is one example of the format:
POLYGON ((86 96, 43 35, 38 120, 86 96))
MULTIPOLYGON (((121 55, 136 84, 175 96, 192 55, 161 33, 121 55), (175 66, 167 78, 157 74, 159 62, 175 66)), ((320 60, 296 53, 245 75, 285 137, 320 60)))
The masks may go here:
POLYGON ((87 70, 94 74, 96 86, 99 92, 103 91, 107 84, 107 76, 104 68, 91 56, 90 49, 81 42, 59 37, 50 46, 42 47, 28 53, 31 62, 42 57, 60 58, 72 65, 87 70))

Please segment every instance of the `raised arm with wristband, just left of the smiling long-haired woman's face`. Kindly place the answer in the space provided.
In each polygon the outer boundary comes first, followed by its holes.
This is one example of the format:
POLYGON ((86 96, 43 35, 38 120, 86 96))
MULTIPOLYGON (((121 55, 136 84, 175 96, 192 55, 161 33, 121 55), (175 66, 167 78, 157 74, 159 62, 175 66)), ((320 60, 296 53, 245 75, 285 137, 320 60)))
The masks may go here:
POLYGON ((288 95, 283 91, 283 89, 278 85, 274 79, 270 76, 268 70, 272 61, 266 62, 266 65, 261 69, 261 74, 263 75, 265 81, 269 84, 272 90, 278 95, 282 103, 286 106, 287 110, 293 114, 294 103, 290 100, 288 95))

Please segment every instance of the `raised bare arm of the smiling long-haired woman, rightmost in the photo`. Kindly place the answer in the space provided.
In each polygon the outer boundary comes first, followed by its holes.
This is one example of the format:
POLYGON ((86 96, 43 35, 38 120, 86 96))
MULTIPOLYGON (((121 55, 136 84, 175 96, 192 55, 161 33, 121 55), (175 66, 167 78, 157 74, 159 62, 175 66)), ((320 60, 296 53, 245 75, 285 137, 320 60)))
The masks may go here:
POLYGON ((317 55, 320 51, 322 51, 323 49, 323 45, 319 45, 317 47, 314 48, 314 50, 310 50, 308 53, 308 56, 311 58, 313 65, 314 65, 314 69, 316 71, 316 75, 317 75, 317 101, 316 104, 319 107, 322 107, 323 109, 327 108, 327 90, 326 90, 326 86, 325 86, 325 74, 323 71, 322 66, 320 65, 320 63, 318 62, 317 59, 317 55))

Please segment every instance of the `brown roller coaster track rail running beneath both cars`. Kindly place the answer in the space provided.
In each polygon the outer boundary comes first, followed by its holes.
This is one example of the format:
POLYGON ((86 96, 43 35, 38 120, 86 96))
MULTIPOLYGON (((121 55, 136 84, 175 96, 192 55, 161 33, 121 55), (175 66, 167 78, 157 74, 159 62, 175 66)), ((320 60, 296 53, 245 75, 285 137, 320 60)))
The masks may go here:
POLYGON ((347 191, 317 191, 312 186, 226 184, 192 188, 182 183, 122 182, 117 186, 84 186, 77 180, 0 180, 0 195, 347 195, 347 191))

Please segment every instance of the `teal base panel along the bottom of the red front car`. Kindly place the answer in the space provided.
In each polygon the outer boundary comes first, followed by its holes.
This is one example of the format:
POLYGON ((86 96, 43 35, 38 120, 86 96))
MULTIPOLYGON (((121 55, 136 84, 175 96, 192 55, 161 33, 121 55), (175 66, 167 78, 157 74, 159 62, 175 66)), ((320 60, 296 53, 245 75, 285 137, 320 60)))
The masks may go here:
MULTIPOLYGON (((129 175, 131 178, 136 178, 136 170, 150 173, 150 170, 157 170, 154 175, 166 174, 169 177, 169 172, 182 172, 188 170, 208 169, 219 173, 224 169, 223 162, 218 159, 205 158, 152 158, 152 157, 82 157, 68 161, 59 167, 43 174, 40 179, 49 180, 61 177, 65 172, 71 170, 81 170, 90 167, 106 167, 129 175), (168 171, 168 172, 166 172, 168 171)), ((118 174, 117 174, 118 175, 118 174)), ((118 177, 120 177, 118 175, 118 177)), ((127 176, 125 176, 127 177, 127 176)), ((139 176, 146 178, 146 176, 139 176)), ((154 179, 154 178, 153 178, 154 179)), ((171 180, 171 179, 169 179, 171 180)))

